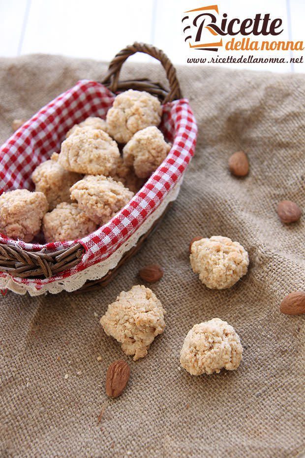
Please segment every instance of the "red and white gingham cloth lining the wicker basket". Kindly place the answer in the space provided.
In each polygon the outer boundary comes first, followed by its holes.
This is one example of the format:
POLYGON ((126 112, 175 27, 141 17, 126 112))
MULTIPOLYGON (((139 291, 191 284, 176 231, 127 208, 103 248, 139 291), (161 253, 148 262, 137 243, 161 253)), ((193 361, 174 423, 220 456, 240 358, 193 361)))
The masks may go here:
MULTIPOLYGON (((43 107, 0 148, 0 194, 17 188, 34 189, 31 173, 53 151, 60 152, 61 142, 74 124, 88 116, 106 117, 114 100, 105 86, 95 81, 81 80, 43 107)), ((36 289, 58 281, 108 258, 138 229, 182 177, 194 154, 197 125, 187 99, 163 105, 160 129, 173 143, 163 163, 155 170, 143 188, 107 224, 81 240, 54 242, 45 245, 11 240, 0 234, 0 242, 27 250, 56 251, 80 242, 85 248, 82 260, 75 267, 47 279, 13 277, 22 284, 33 284, 36 289)), ((0 272, 0 277, 7 274, 0 272)))

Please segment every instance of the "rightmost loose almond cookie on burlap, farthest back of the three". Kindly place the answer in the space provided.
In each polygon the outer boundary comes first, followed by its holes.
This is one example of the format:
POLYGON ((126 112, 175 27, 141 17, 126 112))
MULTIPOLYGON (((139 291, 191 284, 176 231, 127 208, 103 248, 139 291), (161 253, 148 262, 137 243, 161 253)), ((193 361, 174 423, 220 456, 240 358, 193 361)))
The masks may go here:
POLYGON ((194 241, 189 259, 202 283, 217 290, 233 286, 247 273, 249 265, 244 247, 220 235, 194 241))

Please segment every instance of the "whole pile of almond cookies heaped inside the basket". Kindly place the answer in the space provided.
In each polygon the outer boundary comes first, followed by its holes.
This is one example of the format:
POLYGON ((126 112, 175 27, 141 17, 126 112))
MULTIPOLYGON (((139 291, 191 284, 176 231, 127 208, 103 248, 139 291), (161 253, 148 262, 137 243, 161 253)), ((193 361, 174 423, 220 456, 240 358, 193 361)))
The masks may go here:
POLYGON ((171 145, 157 128, 162 107, 147 92, 118 95, 106 120, 89 117, 73 126, 59 154, 32 173, 35 192, 0 196, 0 232, 32 241, 79 239, 124 207, 166 158, 171 145))

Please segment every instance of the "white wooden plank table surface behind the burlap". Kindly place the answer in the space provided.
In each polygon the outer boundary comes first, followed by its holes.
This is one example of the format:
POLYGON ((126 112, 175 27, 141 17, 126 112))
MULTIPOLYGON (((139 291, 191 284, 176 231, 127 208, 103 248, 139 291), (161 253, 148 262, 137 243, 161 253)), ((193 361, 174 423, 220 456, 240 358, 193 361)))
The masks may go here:
MULTIPOLYGON (((283 19, 280 39, 305 39, 305 0, 0 0, 0 56, 50 53, 109 61, 136 40, 160 47, 174 64, 185 64, 189 50, 182 34, 182 13, 214 3, 234 17, 271 13, 283 19)), ((282 54, 289 62, 294 55, 282 54)), ((149 58, 137 54, 132 59, 149 58)), ((305 64, 226 66, 305 72, 305 64)))

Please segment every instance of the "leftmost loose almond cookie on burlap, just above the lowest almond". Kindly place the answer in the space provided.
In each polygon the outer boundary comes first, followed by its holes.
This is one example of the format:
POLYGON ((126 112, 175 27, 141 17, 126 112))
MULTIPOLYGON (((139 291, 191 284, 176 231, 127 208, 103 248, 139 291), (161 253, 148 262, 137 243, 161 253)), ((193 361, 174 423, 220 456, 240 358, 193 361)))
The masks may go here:
POLYGON ((104 331, 122 344, 125 355, 143 358, 156 335, 165 328, 165 310, 149 288, 133 286, 122 291, 100 319, 104 331))

